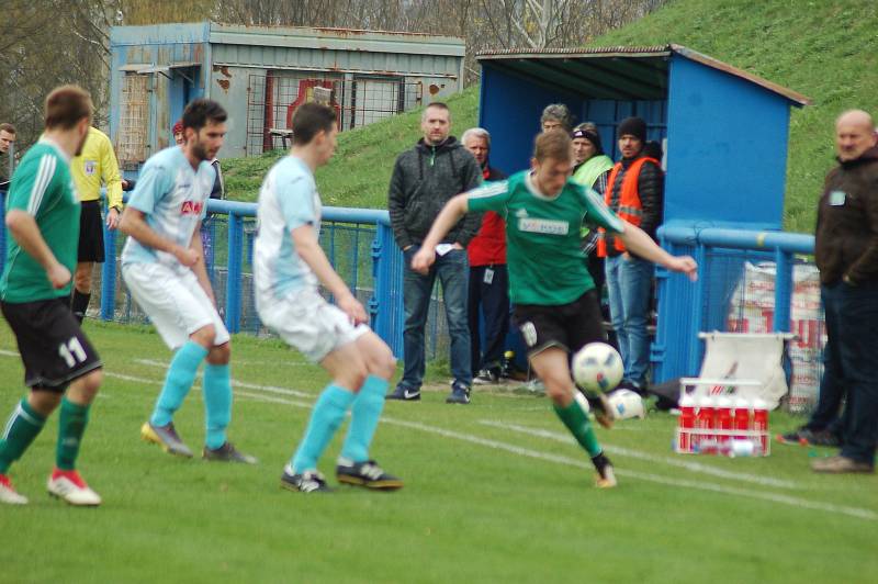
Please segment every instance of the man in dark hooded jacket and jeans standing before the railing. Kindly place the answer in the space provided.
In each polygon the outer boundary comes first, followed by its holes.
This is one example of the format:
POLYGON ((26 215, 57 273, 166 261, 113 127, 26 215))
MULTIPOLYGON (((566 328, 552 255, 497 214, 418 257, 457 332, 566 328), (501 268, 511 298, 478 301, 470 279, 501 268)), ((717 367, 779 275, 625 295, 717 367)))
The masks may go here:
POLYGON ((396 158, 391 177, 387 209, 396 244, 405 257, 403 302, 405 304, 405 370, 390 400, 420 400, 424 380, 424 329, 434 282, 439 277, 451 338, 451 395, 448 403, 470 403, 472 371, 470 329, 466 323, 466 283, 469 265, 466 245, 479 229, 480 216, 461 220, 442 245, 437 247, 436 263, 424 276, 410 267, 412 258, 430 231, 442 206, 455 194, 477 187, 482 170, 475 158, 450 136, 451 113, 444 103, 427 106, 420 120, 424 137, 410 150, 396 158))

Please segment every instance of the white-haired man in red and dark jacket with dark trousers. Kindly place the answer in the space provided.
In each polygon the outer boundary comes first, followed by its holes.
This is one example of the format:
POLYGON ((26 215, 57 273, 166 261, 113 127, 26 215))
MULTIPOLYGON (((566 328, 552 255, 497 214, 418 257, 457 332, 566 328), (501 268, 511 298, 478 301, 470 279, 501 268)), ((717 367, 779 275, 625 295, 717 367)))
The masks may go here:
MULTIPOLYGON (((506 173, 488 164, 491 134, 471 127, 461 136, 486 181, 503 180, 506 173)), ((470 321, 470 356, 473 383, 499 382, 503 349, 509 330, 509 274, 506 271, 506 223, 493 211, 482 216, 482 226, 466 248, 470 259, 470 291, 466 314, 470 321), (480 318, 480 313, 482 318, 480 318), (484 321, 484 351, 481 322, 484 321)))

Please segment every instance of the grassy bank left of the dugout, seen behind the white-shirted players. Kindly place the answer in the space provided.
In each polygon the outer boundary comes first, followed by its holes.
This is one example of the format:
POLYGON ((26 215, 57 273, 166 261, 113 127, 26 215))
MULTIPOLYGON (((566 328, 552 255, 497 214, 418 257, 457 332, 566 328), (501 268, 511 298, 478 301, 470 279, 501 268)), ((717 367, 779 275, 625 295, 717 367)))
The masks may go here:
MULTIPOLYGON (((448 100, 452 134, 475 125, 479 88, 470 88, 448 100)), ((395 115, 370 126, 344 132, 333 160, 317 170, 317 184, 325 205, 385 209, 393 161, 420 138, 420 110, 395 115)), ((280 151, 224 162, 226 187, 234 199, 255 201, 262 177, 280 151)))

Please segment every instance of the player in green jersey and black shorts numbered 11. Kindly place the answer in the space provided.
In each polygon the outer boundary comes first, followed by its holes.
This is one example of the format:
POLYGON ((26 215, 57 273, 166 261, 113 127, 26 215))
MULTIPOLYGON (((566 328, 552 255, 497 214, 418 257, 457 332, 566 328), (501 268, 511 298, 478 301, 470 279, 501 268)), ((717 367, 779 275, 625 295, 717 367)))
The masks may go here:
POLYGON ((7 473, 58 404, 58 446, 48 492, 71 505, 101 503, 75 462, 89 407, 101 384, 102 366, 67 302, 80 212, 70 158, 86 142, 91 114, 91 98, 85 90, 75 86, 55 89, 46 98, 46 131, 12 176, 0 308, 18 340, 24 384, 31 391, 15 406, 0 438, 2 503, 27 503, 7 473))

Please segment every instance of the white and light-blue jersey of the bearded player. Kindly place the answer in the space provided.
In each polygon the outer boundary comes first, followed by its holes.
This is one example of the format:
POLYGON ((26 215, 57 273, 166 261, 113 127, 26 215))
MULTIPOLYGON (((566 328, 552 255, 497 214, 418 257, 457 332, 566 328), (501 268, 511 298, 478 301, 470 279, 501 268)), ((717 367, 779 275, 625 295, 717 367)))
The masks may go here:
MULTIPOLYGON (((188 248, 207 212, 216 171, 206 160, 192 169, 179 146, 157 153, 144 165, 128 206, 142 211, 156 234, 188 248)), ((122 265, 160 262, 179 268, 173 255, 147 247, 128 237, 122 265)))

